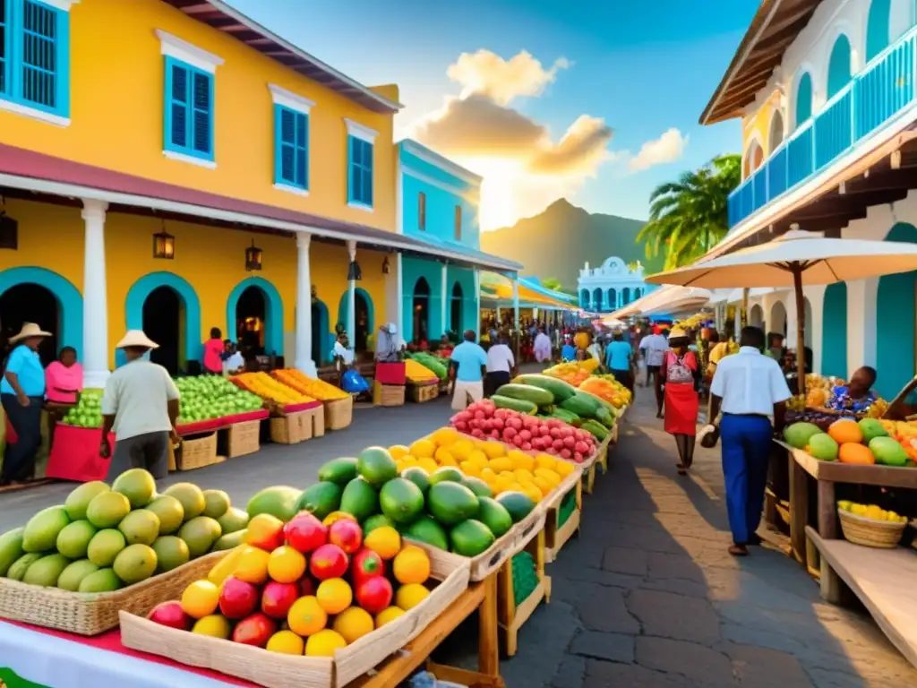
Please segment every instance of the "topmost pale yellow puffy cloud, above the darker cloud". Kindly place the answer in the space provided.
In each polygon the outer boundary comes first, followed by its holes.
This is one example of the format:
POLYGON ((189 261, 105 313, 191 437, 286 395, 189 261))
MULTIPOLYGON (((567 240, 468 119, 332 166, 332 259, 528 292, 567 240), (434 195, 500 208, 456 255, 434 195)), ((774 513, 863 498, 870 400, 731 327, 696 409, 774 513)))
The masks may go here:
POLYGON ((498 105, 509 105, 518 96, 544 93, 547 84, 553 83, 560 70, 570 66, 567 58, 558 58, 545 69, 526 50, 503 60, 491 50, 463 52, 449 65, 447 76, 462 87, 461 99, 483 95, 498 105))

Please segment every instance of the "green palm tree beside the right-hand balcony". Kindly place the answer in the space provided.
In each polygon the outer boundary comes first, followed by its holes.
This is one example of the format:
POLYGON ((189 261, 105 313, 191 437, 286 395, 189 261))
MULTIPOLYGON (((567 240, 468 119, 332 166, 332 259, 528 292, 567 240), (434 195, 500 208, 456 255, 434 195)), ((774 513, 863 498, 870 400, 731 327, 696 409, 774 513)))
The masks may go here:
POLYGON ((729 231, 726 199, 741 181, 742 157, 721 155, 649 196, 649 222, 636 236, 646 257, 665 251, 665 270, 689 265, 729 231))

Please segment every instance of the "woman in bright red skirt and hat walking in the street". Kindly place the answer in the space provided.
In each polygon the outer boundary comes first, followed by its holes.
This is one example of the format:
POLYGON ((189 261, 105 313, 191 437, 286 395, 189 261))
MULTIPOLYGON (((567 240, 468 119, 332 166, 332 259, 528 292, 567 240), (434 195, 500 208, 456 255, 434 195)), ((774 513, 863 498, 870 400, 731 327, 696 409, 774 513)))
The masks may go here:
POLYGON ((685 475, 694 461, 694 438, 700 408, 698 383, 701 367, 697 355, 688 349, 690 343, 691 338, 683 329, 672 327, 668 333, 669 350, 656 378, 657 388, 664 387, 666 432, 675 437, 675 446, 679 449, 679 475, 685 475))

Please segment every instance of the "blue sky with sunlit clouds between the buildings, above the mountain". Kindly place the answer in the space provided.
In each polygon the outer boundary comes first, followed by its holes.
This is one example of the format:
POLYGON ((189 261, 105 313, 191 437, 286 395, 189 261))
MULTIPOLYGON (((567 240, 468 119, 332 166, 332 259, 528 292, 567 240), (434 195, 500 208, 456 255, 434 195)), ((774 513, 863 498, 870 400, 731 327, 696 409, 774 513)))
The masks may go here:
POLYGON ((757 0, 229 0, 360 83, 397 83, 396 139, 484 177, 481 228, 560 197, 646 219, 659 184, 739 152, 702 127, 757 0))

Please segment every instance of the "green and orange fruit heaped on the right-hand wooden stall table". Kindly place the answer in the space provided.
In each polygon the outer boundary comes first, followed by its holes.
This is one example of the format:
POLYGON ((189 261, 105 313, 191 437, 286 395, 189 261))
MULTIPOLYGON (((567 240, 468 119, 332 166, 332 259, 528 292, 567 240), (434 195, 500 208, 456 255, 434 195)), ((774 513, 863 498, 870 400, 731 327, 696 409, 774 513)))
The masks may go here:
MULTIPOLYGON (((823 432, 812 423, 798 422, 786 427, 783 437, 790 446, 804 449, 819 461, 884 466, 907 466, 910 461, 913 465, 911 451, 917 455, 917 442, 910 436, 889 435, 889 423, 876 418, 840 418, 823 432)), ((897 431, 897 425, 890 427, 897 431)))

